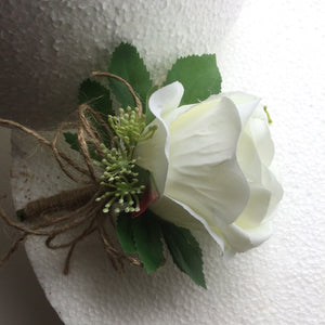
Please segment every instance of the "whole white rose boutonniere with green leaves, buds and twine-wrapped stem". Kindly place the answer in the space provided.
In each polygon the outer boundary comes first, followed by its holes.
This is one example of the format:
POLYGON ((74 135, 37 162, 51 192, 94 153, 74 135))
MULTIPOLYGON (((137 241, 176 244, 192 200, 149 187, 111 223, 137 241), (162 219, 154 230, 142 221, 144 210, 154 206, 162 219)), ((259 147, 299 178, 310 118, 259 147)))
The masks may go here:
POLYGON ((76 245, 96 232, 116 270, 131 263, 152 273, 170 253, 206 287, 193 231, 231 252, 270 236, 270 216, 283 193, 270 170, 270 116, 253 95, 221 93, 214 55, 179 58, 156 86, 136 49, 121 43, 108 72, 81 82, 78 100, 77 120, 62 123, 52 140, 0 119, 49 146, 76 183, 28 203, 17 211, 21 222, 0 210, 22 232, 2 263, 18 243, 38 235, 49 249, 68 248, 67 274, 76 245), (69 151, 58 147, 60 136, 69 151), (69 232, 68 242, 60 240, 69 232))

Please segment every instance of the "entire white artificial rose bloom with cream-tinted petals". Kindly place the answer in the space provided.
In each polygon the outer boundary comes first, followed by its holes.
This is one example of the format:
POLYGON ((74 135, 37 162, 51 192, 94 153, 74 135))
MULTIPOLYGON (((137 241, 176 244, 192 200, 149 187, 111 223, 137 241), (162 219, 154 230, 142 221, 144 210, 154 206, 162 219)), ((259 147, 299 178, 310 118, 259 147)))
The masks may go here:
POLYGON ((158 129, 135 151, 160 194, 150 209, 205 229, 223 251, 258 246, 271 235, 270 214, 283 195, 270 171, 274 146, 260 100, 221 93, 179 107, 183 92, 173 82, 150 99, 158 129))

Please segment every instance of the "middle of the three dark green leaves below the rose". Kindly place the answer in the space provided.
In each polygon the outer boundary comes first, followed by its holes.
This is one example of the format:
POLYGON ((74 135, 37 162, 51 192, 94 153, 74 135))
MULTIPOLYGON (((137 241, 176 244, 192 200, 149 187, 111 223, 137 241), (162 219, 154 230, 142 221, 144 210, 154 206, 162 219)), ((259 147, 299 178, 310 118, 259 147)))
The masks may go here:
POLYGON ((164 261, 160 223, 147 210, 133 219, 133 236, 139 257, 146 272, 155 272, 164 261))

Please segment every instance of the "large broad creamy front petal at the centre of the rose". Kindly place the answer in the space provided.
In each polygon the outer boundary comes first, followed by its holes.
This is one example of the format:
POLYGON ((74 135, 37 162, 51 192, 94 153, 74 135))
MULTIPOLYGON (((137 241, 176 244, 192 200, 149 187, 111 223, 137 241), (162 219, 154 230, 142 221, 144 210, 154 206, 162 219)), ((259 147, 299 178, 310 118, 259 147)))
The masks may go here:
POLYGON ((193 106, 170 125, 165 194, 212 226, 235 221, 249 198, 235 157, 240 130, 234 103, 222 96, 193 106))

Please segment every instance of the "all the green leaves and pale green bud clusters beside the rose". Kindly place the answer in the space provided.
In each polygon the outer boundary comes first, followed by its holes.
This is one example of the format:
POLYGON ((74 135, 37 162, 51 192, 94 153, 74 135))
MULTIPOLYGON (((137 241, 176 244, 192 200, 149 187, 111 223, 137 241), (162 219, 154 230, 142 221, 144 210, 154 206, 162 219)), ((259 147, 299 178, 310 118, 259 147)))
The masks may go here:
MULTIPOLYGON (((104 212, 117 214, 116 232, 121 247, 127 253, 138 253, 147 273, 157 271, 164 263, 164 242, 174 264, 197 285, 206 288, 203 271, 203 253, 198 242, 190 230, 165 221, 151 211, 151 203, 157 195, 146 197, 146 188, 155 186, 150 172, 136 166, 134 148, 140 141, 153 136, 155 127, 146 128, 154 120, 147 100, 160 88, 153 84, 144 61, 136 49, 121 43, 113 52, 108 72, 115 74, 133 88, 142 105, 142 115, 128 88, 118 80, 109 79, 108 88, 93 79, 86 79, 79 87, 79 104, 87 103, 109 122, 114 132, 114 145, 108 147, 108 136, 102 144, 106 159, 95 165, 104 170, 102 183, 107 192, 98 197, 106 200, 104 212), (118 109, 113 108, 113 101, 118 109), (144 131, 145 130, 145 131, 144 131), (141 177, 140 177, 141 176, 141 177), (141 202, 144 202, 141 205, 141 202)), ((179 58, 167 74, 164 86, 173 81, 184 86, 181 104, 203 101, 221 90, 221 77, 212 54, 191 55, 179 58)), ((99 131, 104 131, 99 127, 99 131)), ((76 133, 65 132, 65 140, 73 150, 79 148, 76 133)), ((152 191, 155 192, 155 191, 152 191)), ((168 212, 168 211, 167 211, 168 212)))

